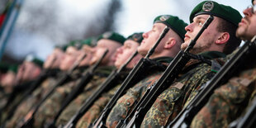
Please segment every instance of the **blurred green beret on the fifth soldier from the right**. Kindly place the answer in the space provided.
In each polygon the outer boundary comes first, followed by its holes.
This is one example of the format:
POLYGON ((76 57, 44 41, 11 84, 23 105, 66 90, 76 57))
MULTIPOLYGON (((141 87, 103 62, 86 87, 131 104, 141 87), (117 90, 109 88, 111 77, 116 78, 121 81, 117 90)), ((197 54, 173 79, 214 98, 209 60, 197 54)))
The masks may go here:
POLYGON ((97 40, 102 40, 102 39, 114 40, 120 43, 121 45, 123 45, 124 42, 126 41, 126 38, 124 36, 121 36, 120 34, 112 31, 107 31, 103 33, 101 36, 98 37, 97 40))

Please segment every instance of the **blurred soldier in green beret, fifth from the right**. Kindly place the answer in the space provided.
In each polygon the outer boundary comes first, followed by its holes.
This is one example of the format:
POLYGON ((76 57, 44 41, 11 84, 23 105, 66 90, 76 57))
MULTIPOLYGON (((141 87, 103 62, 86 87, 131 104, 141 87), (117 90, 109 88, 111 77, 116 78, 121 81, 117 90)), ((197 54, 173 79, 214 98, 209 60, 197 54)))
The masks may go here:
MULTIPOLYGON (((116 49, 121 46, 124 42, 125 37, 121 36, 116 32, 107 31, 101 36, 98 37, 97 45, 92 49, 92 59, 89 61, 89 64, 95 64, 97 60, 102 57, 102 54, 108 50, 107 55, 102 59, 99 67, 96 69, 93 78, 90 80, 86 88, 83 89, 83 92, 76 97, 73 102, 69 103, 64 111, 59 116, 57 124, 63 124, 69 121, 71 116, 78 111, 78 108, 82 103, 92 95, 97 89, 97 86, 105 81, 108 74, 111 73, 111 70, 114 69, 113 64, 115 60, 113 59, 116 53, 116 49)), ((86 49, 86 48, 85 48, 86 49)))

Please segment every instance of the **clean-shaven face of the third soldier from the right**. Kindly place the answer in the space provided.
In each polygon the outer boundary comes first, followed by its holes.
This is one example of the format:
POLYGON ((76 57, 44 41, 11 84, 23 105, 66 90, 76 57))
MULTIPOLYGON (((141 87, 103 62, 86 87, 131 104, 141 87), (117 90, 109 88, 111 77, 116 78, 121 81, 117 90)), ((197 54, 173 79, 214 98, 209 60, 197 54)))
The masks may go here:
MULTIPOLYGON (((155 42, 159 39, 159 36, 164 31, 165 25, 163 23, 155 23, 152 29, 148 32, 145 32, 142 36, 144 40, 140 43, 138 47, 138 52, 140 55, 145 56, 147 55, 148 51, 154 46, 155 42)), ((163 43, 166 40, 164 37, 163 40, 159 43, 157 48, 154 50, 154 54, 158 53, 163 49, 163 43)))

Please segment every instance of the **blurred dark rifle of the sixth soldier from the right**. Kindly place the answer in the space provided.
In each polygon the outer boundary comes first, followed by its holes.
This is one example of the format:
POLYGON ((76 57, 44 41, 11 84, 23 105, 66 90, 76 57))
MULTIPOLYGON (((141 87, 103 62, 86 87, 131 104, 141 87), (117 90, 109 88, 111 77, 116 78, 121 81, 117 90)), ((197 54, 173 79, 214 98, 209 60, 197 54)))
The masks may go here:
MULTIPOLYGON (((86 55, 83 56, 83 58, 86 55)), ((36 105, 36 107, 32 107, 31 111, 29 111, 26 116, 25 116, 25 122, 23 124, 21 124, 21 128, 25 128, 25 127, 33 127, 33 123, 35 121, 35 115, 36 115, 36 111, 38 111, 38 109, 40 108, 40 106, 45 102, 45 100, 51 96, 51 94, 53 92, 55 92, 55 89, 58 88, 59 86, 63 85, 64 83, 66 83, 69 79, 70 79, 70 75, 73 73, 74 69, 78 68, 78 64, 83 60, 83 58, 79 59, 78 61, 76 61, 73 66, 71 67, 71 69, 69 69, 69 71, 67 73, 65 73, 64 75, 61 76, 61 78, 59 78, 58 82, 55 84, 55 86, 53 88, 51 88, 51 90, 49 92, 46 93, 45 97, 43 97, 40 102, 36 105), (28 116, 28 119, 26 119, 26 117, 28 116)))

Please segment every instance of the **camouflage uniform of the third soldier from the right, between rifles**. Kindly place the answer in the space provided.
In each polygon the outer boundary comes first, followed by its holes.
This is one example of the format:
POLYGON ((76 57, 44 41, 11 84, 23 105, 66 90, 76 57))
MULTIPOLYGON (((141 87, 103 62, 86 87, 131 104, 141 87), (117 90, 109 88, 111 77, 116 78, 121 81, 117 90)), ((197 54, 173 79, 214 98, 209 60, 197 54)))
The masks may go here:
MULTIPOLYGON (((169 63, 171 60, 171 58, 165 57, 154 59, 154 61, 160 63, 169 63)), ((107 127, 115 127, 118 121, 125 119, 132 108, 135 107, 136 102, 138 102, 143 96, 146 88, 157 81, 161 76, 161 73, 162 71, 159 70, 150 70, 150 72, 147 73, 148 76, 146 78, 141 80, 139 83, 136 83, 133 88, 128 89, 126 94, 118 99, 116 105, 107 116, 107 127)))

